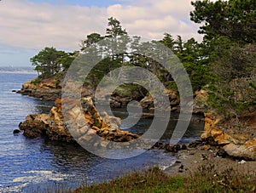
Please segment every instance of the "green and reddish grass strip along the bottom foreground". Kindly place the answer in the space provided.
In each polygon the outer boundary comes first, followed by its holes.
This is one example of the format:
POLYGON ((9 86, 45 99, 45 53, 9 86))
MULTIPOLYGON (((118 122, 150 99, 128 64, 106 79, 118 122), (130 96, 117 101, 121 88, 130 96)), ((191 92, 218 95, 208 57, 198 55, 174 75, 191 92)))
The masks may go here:
POLYGON ((102 184, 84 186, 75 193, 85 192, 255 192, 256 174, 241 175, 232 168, 217 173, 213 165, 201 166, 189 177, 170 177, 159 167, 145 172, 129 173, 102 184))

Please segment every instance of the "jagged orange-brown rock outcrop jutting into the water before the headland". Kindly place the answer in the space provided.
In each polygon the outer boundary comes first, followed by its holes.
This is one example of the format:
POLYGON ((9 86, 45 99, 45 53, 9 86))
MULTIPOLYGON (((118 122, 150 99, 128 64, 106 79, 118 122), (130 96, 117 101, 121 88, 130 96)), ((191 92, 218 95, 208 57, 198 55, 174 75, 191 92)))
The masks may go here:
POLYGON ((80 110, 79 103, 80 101, 73 99, 57 99, 49 114, 26 116, 26 121, 20 123, 20 130, 23 130, 28 138, 45 136, 51 140, 67 142, 75 141, 73 137, 90 141, 94 135, 115 142, 128 142, 139 138, 135 133, 120 130, 119 118, 108 116, 107 113, 103 117, 100 116, 90 97, 82 99, 83 111, 80 110), (68 104, 69 109, 65 113, 68 120, 73 120, 73 122, 64 122, 61 104, 68 104), (78 136, 70 133, 67 124, 76 129, 73 134, 78 136))

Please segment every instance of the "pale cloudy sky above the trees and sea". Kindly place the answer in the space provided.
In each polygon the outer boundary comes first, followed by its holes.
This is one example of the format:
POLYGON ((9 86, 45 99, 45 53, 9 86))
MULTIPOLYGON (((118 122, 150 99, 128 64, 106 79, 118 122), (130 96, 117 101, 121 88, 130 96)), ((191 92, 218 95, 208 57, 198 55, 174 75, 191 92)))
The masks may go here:
POLYGON ((55 47, 79 50, 86 35, 105 34, 113 16, 130 35, 161 39, 165 32, 195 37, 189 20, 191 0, 2 0, 0 1, 0 65, 30 66, 38 51, 55 47))

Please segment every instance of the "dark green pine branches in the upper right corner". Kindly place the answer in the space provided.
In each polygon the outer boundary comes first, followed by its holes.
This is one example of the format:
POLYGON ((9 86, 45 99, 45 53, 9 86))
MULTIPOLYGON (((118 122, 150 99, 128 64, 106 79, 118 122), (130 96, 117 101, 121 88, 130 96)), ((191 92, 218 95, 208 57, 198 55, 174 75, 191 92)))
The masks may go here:
POLYGON ((207 39, 225 36, 236 42, 255 43, 254 0, 202 0, 192 5, 195 10, 190 12, 190 20, 202 24, 198 32, 206 34, 207 39))

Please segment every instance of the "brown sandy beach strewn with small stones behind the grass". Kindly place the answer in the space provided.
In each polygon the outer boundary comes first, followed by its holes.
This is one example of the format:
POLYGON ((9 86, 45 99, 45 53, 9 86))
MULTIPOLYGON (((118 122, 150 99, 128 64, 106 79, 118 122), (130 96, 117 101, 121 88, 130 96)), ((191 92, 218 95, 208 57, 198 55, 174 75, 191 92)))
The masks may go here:
MULTIPOLYGON (((242 158, 227 155, 218 146, 208 147, 197 145, 179 150, 177 161, 164 172, 171 176, 191 176, 200 169, 211 169, 214 173, 230 171, 239 174, 255 174, 256 161, 246 161, 242 158)), ((206 171, 207 172, 207 171, 206 171)))

